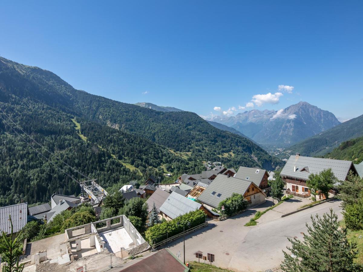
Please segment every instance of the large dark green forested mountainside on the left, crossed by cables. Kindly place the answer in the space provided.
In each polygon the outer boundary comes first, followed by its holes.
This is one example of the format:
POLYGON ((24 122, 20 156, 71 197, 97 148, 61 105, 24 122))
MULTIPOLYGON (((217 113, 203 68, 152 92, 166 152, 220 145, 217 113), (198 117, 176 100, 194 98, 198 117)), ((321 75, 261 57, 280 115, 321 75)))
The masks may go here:
MULTIPOLYGON (((5 58, 0 58, 0 108, 49 151, 105 187, 151 173, 161 176, 163 170, 198 173, 201 160, 235 168, 283 165, 248 139, 216 129, 191 112, 159 112, 91 95, 50 71, 5 58)), ((49 201, 59 188, 79 193, 76 182, 0 120, 0 205, 21 198, 49 201)))

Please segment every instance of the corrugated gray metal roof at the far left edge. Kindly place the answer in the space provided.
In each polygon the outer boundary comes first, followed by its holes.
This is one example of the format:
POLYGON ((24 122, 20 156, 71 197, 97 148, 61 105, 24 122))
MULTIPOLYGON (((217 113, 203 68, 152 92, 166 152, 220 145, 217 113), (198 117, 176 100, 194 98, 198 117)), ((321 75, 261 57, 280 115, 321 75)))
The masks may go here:
POLYGON ((13 223, 13 233, 20 231, 28 222, 28 203, 20 203, 0 208, 0 231, 10 233, 11 224, 9 214, 13 223))

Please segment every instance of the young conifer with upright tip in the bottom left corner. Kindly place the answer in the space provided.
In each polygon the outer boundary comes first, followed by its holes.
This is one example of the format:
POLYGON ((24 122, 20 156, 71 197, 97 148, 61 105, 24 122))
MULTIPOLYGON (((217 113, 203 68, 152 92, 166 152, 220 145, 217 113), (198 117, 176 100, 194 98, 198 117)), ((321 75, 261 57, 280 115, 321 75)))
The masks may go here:
POLYGON ((5 232, 3 232, 0 237, 1 261, 7 263, 7 265, 3 265, 2 272, 22 272, 24 269, 24 264, 19 264, 19 257, 23 254, 22 250, 20 249, 21 242, 18 240, 18 237, 12 240, 13 223, 11 221, 10 215, 9 221, 11 225, 10 234, 7 235, 5 232))

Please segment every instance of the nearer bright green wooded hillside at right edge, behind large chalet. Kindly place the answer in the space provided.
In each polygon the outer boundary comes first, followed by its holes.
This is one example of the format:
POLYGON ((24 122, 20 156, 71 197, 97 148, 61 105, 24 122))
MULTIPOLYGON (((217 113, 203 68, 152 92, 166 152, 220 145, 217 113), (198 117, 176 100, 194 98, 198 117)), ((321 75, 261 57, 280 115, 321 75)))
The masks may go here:
POLYGON ((345 141, 324 155, 324 158, 353 161, 359 164, 363 161, 363 137, 345 141))

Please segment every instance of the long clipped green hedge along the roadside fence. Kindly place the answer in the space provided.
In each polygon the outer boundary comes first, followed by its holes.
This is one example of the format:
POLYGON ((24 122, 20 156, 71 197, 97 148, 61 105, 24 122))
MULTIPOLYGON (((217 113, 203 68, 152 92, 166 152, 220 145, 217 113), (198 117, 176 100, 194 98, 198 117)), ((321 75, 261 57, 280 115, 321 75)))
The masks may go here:
POLYGON ((152 226, 146 230, 145 238, 150 244, 155 244, 166 239, 167 234, 169 237, 179 234, 183 232, 183 224, 178 224, 178 222, 183 221, 190 222, 190 226, 185 224, 185 230, 188 230, 189 228, 203 224, 205 222, 205 213, 202 210, 191 211, 171 221, 165 221, 152 226))

